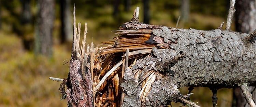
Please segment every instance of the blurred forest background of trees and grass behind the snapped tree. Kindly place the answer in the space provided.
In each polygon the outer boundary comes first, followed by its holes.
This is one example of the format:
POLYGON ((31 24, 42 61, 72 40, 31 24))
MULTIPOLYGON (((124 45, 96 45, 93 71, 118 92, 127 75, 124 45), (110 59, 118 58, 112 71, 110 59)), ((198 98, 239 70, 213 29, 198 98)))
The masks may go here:
MULTIPOLYGON (((129 21, 137 6, 141 10, 141 22, 176 27, 181 16, 177 28, 199 30, 218 28, 222 22, 226 22, 229 8, 229 0, 45 1, 0 0, 0 107, 67 106, 66 100, 59 101, 60 82, 48 78, 68 76, 69 64, 63 64, 71 56, 74 4, 76 22, 82 22, 82 32, 84 22, 88 22, 87 42, 93 41, 95 44, 115 37, 111 31, 129 21), (49 4, 43 5, 45 1, 49 4), (184 10, 181 4, 185 1, 189 2, 184 10), (43 8, 48 9, 48 13, 43 13, 43 8), (53 21, 42 20, 47 16, 52 17, 53 21), (46 29, 41 27, 46 27, 50 33, 42 34, 46 29), (38 41, 41 44, 52 41, 47 49, 49 53, 40 51, 42 47, 38 41)), ((235 29, 234 24, 231 28, 235 29)), ((187 94, 187 88, 182 88, 181 92, 187 94)), ((209 88, 196 87, 192 92, 195 94, 191 100, 199 102, 198 105, 212 106, 209 88)), ((219 107, 231 106, 232 89, 221 89, 217 94, 219 107)), ((172 105, 182 106, 180 103, 172 105)))

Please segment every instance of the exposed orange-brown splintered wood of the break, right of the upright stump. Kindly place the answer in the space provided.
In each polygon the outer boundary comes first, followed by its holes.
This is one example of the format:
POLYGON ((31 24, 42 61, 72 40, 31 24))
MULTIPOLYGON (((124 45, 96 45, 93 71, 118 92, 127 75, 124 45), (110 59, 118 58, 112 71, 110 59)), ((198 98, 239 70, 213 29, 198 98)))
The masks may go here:
MULTIPOLYGON (((136 11, 128 23, 139 22, 135 14, 136 11)), ((94 96, 97 107, 117 107, 123 104, 125 93, 120 85, 124 82, 125 71, 130 70, 137 60, 148 56, 152 48, 156 47, 154 43, 146 43, 152 35, 151 29, 130 29, 121 26, 119 30, 112 32, 119 36, 115 37, 114 41, 102 42, 109 46, 99 48, 95 55, 97 60, 94 61, 94 96)), ((133 72, 137 81, 140 81, 139 85, 143 87, 140 99, 145 101, 151 84, 162 74, 151 70, 145 72, 146 76, 142 75, 143 77, 138 79, 141 73, 142 70, 133 72)))

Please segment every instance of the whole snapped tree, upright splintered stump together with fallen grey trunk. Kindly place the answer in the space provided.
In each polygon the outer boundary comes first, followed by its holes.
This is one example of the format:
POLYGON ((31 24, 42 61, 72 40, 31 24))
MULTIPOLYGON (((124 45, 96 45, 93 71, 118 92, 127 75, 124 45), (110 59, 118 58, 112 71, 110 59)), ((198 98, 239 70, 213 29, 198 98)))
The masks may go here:
POLYGON ((79 47, 81 23, 76 28, 74 17, 70 73, 60 79, 69 106, 197 106, 185 100, 191 94, 180 93, 185 86, 209 87, 214 106, 218 89, 241 87, 255 106, 247 86, 256 83, 256 31, 233 32, 222 25, 212 31, 176 29, 140 23, 138 14, 137 9, 131 21, 113 31, 119 35, 115 41, 102 43, 110 46, 91 43, 87 51, 85 37, 79 47))

